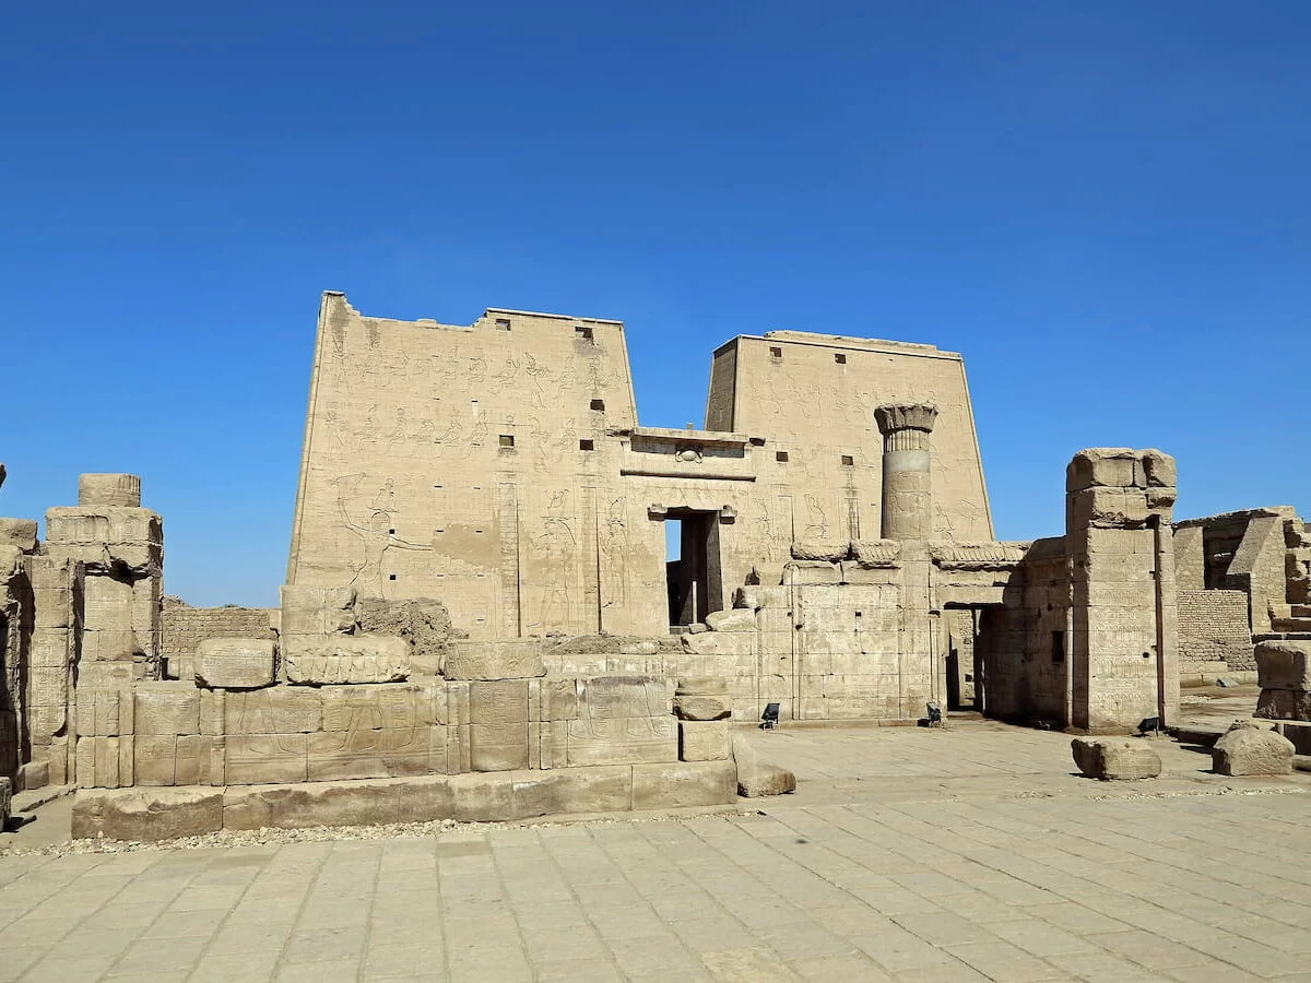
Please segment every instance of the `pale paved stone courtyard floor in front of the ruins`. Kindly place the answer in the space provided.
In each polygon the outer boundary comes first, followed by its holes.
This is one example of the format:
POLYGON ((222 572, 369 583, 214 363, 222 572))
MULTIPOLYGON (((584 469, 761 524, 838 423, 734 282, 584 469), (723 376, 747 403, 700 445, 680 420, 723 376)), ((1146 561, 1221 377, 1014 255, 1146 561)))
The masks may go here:
POLYGON ((982 721, 754 741, 800 786, 742 815, 0 855, 0 979, 1311 979, 1306 776, 1159 742, 1093 782, 982 721))

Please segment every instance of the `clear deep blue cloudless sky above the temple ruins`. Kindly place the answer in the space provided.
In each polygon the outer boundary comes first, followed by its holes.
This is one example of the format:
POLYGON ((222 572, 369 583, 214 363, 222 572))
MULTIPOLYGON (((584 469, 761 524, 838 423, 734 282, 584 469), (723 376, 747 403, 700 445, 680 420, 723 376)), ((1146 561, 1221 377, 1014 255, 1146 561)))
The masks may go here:
MULTIPOLYGON (((641 422, 772 328, 966 359, 996 535, 1088 446, 1311 511, 1311 5, 14 4, 0 514, 126 471, 273 604, 321 290, 621 318, 641 422)), ((802 409, 804 412, 804 409, 802 409)))

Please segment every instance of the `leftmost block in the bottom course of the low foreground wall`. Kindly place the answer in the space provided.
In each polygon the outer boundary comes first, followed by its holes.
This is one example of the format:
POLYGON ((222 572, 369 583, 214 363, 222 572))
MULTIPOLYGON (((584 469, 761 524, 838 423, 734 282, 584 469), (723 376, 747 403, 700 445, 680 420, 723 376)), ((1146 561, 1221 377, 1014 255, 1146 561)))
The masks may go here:
POLYGON ((211 789, 83 789, 73 798, 73 839, 157 841, 223 828, 223 793, 211 789))

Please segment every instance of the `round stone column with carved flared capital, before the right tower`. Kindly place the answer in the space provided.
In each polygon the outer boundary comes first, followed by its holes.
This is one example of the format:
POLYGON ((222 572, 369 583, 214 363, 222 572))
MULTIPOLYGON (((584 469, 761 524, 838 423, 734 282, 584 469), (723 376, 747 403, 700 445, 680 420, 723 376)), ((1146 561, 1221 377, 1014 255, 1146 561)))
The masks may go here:
POLYGON ((937 421, 937 406, 880 406, 874 419, 884 435, 884 539, 927 540, 933 532, 928 435, 937 421))

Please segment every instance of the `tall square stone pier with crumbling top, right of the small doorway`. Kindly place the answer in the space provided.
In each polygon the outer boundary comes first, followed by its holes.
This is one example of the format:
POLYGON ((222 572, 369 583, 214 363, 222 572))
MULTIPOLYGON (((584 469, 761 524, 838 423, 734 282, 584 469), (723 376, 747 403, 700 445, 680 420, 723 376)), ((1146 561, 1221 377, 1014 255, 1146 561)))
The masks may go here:
POLYGON ((1089 448, 1066 471, 1075 727, 1164 727, 1179 713, 1173 503, 1175 459, 1160 451, 1089 448))

